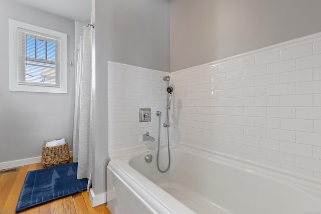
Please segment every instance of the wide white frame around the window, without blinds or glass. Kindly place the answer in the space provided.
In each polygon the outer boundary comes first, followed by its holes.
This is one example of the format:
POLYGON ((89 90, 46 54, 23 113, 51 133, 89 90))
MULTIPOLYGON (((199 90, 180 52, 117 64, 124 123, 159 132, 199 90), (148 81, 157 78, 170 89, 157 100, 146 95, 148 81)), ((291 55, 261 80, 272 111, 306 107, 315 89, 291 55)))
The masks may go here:
POLYGON ((9 91, 67 93, 67 34, 9 20, 9 91), (60 86, 19 84, 18 29, 26 29, 60 39, 60 86))

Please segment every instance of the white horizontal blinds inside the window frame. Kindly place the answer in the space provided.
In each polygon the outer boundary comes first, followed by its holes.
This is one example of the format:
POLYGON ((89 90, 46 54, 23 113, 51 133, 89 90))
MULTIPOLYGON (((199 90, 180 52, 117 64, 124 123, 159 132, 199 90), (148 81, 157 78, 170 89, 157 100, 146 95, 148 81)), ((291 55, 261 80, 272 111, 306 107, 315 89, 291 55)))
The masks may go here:
POLYGON ((18 29, 19 84, 60 86, 60 39, 18 29))

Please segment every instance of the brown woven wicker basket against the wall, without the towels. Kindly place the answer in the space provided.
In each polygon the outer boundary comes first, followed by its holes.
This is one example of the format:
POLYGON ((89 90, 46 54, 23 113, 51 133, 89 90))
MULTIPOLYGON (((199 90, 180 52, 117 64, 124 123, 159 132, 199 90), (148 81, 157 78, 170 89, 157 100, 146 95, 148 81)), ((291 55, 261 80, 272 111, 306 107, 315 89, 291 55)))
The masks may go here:
POLYGON ((69 161, 69 147, 66 140, 66 144, 60 146, 43 146, 41 162, 44 167, 58 166, 68 163, 69 161))

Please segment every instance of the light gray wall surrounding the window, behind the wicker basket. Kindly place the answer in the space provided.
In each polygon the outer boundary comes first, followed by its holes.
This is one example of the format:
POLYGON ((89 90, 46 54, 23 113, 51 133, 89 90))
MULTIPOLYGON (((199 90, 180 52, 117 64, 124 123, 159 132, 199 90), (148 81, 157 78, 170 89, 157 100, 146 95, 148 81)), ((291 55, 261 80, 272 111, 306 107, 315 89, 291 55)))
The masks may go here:
POLYGON ((74 67, 68 66, 68 94, 9 91, 9 19, 66 33, 67 61, 74 61, 74 21, 1 1, 0 163, 41 156, 44 140, 65 137, 72 150, 74 67))

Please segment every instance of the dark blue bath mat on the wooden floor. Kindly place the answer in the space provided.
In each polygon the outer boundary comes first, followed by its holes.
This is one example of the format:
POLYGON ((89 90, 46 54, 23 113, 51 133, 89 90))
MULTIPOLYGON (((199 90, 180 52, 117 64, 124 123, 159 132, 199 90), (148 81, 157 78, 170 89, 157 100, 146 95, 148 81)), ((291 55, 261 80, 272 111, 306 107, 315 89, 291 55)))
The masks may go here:
POLYGON ((77 180, 77 163, 29 171, 16 212, 87 189, 88 179, 77 180))

